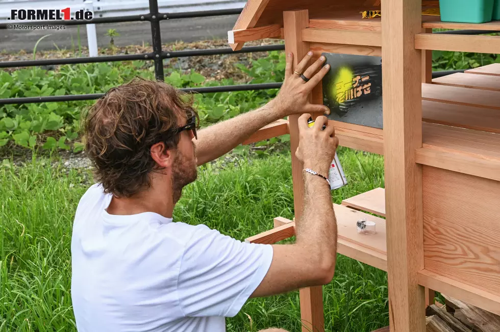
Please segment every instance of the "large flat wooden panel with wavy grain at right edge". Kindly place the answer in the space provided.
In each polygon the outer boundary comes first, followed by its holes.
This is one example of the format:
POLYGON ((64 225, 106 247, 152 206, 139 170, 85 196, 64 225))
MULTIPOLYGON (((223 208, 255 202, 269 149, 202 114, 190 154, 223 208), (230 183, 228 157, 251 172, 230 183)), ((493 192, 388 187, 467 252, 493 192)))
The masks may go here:
POLYGON ((423 167, 426 270, 500 295, 500 182, 423 167))

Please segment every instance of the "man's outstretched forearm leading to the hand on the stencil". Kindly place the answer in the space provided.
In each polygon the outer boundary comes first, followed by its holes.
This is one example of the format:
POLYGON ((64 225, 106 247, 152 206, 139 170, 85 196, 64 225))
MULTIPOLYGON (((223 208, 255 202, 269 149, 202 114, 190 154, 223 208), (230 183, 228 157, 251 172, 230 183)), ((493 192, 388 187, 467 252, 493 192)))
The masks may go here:
POLYGON ((277 106, 276 102, 271 100, 252 112, 200 130, 198 139, 194 141, 198 165, 228 153, 260 128, 280 119, 281 113, 276 112, 275 108, 277 106))

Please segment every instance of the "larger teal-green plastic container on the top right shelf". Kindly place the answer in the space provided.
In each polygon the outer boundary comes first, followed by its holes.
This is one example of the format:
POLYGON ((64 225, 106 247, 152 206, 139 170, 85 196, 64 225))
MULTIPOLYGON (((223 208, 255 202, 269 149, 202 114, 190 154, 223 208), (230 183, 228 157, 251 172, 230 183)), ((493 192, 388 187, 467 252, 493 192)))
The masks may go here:
POLYGON ((441 21, 484 23, 493 17, 493 5, 499 0, 439 0, 441 21))

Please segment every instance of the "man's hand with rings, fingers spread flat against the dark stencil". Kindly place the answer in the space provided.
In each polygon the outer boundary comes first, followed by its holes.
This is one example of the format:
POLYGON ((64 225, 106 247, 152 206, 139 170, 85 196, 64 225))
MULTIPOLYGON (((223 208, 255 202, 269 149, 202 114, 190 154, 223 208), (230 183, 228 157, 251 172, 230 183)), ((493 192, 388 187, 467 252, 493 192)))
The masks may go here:
POLYGON ((312 51, 307 53, 295 70, 293 70, 293 54, 287 54, 285 81, 283 82, 283 86, 278 96, 272 101, 280 118, 291 114, 314 112, 330 114, 330 109, 327 106, 323 104, 311 104, 309 102, 309 94, 330 70, 330 65, 326 65, 318 71, 319 67, 321 67, 326 60, 324 56, 321 56, 316 62, 308 67, 312 55, 312 51), (306 82, 306 80, 301 77, 301 74, 309 80, 306 82))

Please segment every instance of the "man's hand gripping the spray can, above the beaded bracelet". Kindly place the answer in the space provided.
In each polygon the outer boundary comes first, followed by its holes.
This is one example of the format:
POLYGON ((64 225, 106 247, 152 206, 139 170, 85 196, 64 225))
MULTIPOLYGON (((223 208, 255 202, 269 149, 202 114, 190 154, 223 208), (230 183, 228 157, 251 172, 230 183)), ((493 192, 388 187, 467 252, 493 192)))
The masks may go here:
POLYGON ((314 126, 309 128, 307 121, 310 117, 311 115, 306 113, 298 118, 300 142, 295 156, 304 163, 305 168, 328 178, 330 163, 335 156, 339 140, 335 137, 335 128, 328 125, 327 117, 317 117, 314 126), (327 127, 321 130, 323 124, 327 127))

